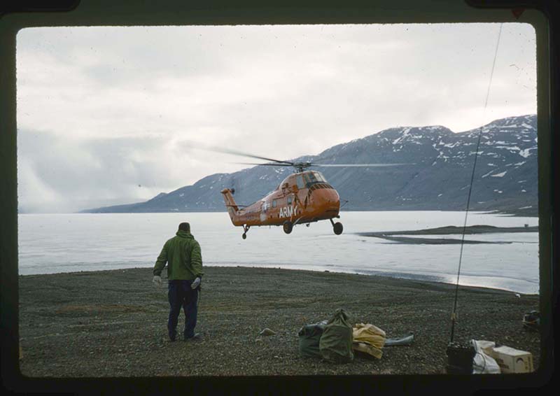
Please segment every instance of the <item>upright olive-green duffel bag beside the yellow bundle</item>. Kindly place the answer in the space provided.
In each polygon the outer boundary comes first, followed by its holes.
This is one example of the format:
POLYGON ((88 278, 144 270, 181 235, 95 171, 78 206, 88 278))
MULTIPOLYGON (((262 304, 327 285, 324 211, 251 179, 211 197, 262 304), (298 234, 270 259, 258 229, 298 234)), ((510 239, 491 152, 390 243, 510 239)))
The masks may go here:
POLYGON ((319 351, 323 359, 346 363, 354 358, 352 352, 352 326, 344 309, 337 309, 330 318, 319 340, 319 351))

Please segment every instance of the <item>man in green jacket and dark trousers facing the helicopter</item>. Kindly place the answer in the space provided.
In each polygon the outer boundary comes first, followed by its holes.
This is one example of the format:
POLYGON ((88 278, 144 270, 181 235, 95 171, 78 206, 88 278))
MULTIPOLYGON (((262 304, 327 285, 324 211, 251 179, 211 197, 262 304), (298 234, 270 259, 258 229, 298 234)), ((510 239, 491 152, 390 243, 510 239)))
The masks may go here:
POLYGON ((158 260, 153 267, 153 283, 161 285, 161 273, 167 266, 167 278, 169 297, 169 339, 175 341, 177 335, 177 322, 181 306, 185 312, 185 330, 183 337, 185 341, 198 339, 199 334, 195 334, 198 313, 198 291, 202 279, 202 255, 200 245, 190 234, 188 222, 181 222, 179 230, 172 239, 165 242, 158 260))

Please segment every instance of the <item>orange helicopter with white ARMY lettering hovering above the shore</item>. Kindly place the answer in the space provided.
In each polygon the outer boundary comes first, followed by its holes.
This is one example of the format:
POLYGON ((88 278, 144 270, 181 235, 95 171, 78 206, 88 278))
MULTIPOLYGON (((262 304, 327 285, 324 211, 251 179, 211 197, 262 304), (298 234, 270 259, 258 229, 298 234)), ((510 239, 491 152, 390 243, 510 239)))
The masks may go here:
MULTIPOLYGON (((340 218, 340 197, 337 190, 330 185, 318 171, 307 170, 309 167, 386 167, 400 164, 313 164, 311 162, 290 162, 273 160, 232 150, 219 150, 223 153, 243 155, 271 161, 272 163, 252 164, 274 167, 294 167, 295 173, 286 177, 282 183, 266 197, 244 206, 236 204, 233 194, 235 189, 224 188, 221 193, 228 208, 233 225, 243 227, 243 239, 252 226, 281 225, 286 234, 290 234, 295 225, 318 220, 330 220, 332 231, 342 234, 342 223, 333 219, 340 218)), ((242 162, 242 164, 251 164, 242 162)))

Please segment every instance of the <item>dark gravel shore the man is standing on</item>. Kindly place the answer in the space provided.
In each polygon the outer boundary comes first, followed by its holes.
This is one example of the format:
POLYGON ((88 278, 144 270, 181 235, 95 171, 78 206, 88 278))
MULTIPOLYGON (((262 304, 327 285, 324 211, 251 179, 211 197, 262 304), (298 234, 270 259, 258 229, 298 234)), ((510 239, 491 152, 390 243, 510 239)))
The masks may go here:
MULTIPOLYGON (((205 267, 196 342, 167 339, 167 283, 151 269, 20 276, 20 370, 29 377, 444 374, 454 286, 287 269, 205 267), (300 358, 302 325, 342 307, 411 346, 335 365, 300 358), (265 327, 276 334, 262 337, 265 327)), ((165 276, 165 271, 164 271, 165 276)), ((455 341, 486 339, 540 358, 524 313, 538 295, 459 288, 455 341)), ((179 317, 179 332, 184 316, 179 317)), ((179 333, 181 334, 181 333, 179 333)))

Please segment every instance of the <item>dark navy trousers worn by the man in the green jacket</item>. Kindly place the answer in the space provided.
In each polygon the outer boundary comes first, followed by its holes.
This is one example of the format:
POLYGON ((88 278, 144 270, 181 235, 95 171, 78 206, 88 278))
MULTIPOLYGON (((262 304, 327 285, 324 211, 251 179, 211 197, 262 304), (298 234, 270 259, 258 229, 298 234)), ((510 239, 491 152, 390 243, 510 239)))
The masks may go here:
POLYGON ((195 335, 195 326, 197 325, 197 300, 198 290, 190 288, 193 281, 169 281, 167 297, 169 297, 169 321, 167 329, 169 330, 169 338, 175 339, 177 334, 177 322, 179 321, 179 313, 181 306, 185 312, 185 330, 183 337, 190 338, 195 335))

